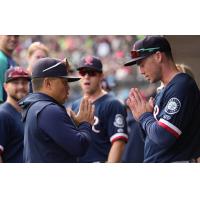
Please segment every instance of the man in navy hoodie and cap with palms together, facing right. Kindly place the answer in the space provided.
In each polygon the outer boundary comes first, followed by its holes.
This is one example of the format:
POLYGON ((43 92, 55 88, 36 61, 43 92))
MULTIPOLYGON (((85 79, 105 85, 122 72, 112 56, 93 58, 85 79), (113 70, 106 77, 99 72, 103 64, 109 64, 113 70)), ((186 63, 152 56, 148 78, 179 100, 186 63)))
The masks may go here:
POLYGON ((68 76, 67 60, 39 59, 33 66, 33 94, 20 102, 25 122, 25 162, 76 162, 90 145, 94 108, 83 99, 76 125, 64 104, 69 94, 68 82, 80 78, 68 76))

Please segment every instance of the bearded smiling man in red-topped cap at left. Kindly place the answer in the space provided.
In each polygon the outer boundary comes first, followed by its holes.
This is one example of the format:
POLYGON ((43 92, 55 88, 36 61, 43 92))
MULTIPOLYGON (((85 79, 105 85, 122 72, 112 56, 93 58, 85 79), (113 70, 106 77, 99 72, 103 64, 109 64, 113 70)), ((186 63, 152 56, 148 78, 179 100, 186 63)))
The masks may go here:
POLYGON ((17 103, 28 94, 29 74, 23 67, 5 73, 7 100, 0 105, 0 161, 23 162, 24 126, 17 103))

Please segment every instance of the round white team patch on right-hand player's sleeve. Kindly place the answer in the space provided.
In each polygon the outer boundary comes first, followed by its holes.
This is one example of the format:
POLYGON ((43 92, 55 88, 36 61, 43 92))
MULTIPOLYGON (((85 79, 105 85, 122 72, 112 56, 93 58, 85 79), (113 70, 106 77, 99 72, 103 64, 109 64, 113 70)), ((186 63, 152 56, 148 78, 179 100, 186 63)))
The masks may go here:
POLYGON ((177 113, 180 110, 180 108, 181 108, 181 102, 177 98, 173 97, 168 101, 165 107, 165 112, 170 115, 173 115, 177 113))

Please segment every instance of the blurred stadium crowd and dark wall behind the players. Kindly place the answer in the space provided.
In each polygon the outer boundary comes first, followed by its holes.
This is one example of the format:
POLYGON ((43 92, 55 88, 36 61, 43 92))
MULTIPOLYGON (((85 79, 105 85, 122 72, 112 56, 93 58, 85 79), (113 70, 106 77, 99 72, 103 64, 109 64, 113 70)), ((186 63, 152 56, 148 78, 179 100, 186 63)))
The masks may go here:
MULTIPOLYGON (((14 57, 19 65, 27 67, 27 49, 32 42, 41 41, 50 50, 50 56, 56 58, 67 57, 75 68, 82 56, 96 55, 102 59, 107 83, 116 96, 124 101, 131 87, 139 87, 143 93, 150 96, 157 84, 149 85, 139 74, 135 67, 123 67, 123 63, 129 59, 132 44, 144 36, 139 35, 29 35, 21 36, 20 44, 14 57)), ((167 35, 165 36, 172 47, 176 63, 189 65, 200 86, 200 36, 167 35)), ((70 101, 80 96, 80 88, 77 83, 71 84, 70 101)))

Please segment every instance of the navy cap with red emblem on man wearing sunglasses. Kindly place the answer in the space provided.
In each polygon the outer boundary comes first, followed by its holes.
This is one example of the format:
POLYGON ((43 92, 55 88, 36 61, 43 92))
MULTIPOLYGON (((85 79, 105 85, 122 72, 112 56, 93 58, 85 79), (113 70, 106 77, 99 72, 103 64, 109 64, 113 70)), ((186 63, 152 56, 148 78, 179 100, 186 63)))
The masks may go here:
POLYGON ((81 59, 77 70, 81 70, 83 68, 102 72, 103 66, 99 58, 95 56, 86 56, 81 59))

